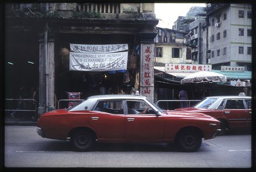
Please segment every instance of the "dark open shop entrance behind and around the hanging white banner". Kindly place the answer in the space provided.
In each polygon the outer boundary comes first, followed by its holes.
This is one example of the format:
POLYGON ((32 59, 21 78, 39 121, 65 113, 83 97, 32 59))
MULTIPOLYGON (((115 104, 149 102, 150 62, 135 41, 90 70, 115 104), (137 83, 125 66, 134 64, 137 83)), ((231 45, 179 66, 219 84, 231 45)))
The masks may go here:
MULTIPOLYGON (((100 94, 130 94, 138 69, 112 71, 70 71, 69 45, 128 44, 129 55, 134 52, 134 35, 124 34, 61 34, 55 47, 55 94, 59 99, 69 99, 68 92, 80 92, 80 99, 100 94)), ((128 56, 129 56, 128 55, 128 56)))

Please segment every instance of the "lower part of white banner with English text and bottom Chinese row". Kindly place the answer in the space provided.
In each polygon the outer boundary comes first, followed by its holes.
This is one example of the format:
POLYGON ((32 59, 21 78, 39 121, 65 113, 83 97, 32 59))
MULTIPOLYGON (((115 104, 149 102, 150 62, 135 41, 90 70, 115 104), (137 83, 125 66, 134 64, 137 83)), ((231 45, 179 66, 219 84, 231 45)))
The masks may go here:
POLYGON ((70 52, 70 70, 77 71, 108 71, 125 70, 128 52, 119 53, 76 53, 70 52))

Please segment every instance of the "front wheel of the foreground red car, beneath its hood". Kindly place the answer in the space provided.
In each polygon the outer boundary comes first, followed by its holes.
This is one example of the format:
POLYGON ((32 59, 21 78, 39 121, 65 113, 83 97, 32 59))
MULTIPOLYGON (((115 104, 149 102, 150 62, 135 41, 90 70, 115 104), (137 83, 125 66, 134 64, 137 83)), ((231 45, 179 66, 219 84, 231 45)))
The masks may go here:
POLYGON ((177 138, 178 144, 185 152, 194 152, 202 144, 202 138, 197 130, 181 131, 177 138))

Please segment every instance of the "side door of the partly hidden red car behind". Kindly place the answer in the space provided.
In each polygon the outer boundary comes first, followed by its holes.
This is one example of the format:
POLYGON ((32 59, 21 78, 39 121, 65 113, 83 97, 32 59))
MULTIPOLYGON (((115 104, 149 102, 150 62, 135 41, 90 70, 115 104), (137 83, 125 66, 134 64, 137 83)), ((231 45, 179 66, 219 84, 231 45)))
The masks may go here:
POLYGON ((231 128, 247 127, 248 113, 244 99, 226 99, 223 116, 228 119, 231 128))

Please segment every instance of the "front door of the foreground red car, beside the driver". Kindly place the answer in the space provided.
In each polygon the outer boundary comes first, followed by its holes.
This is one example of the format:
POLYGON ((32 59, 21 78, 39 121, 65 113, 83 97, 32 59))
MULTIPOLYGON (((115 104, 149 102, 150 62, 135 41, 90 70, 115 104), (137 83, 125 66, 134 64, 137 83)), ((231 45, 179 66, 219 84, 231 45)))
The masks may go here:
POLYGON ((129 102, 136 103, 138 114, 131 114, 129 109, 126 110, 125 122, 125 139, 127 140, 159 140, 164 138, 164 120, 156 115, 149 104, 144 100, 126 101, 126 107, 129 102), (149 108, 147 113, 143 111, 149 108))

